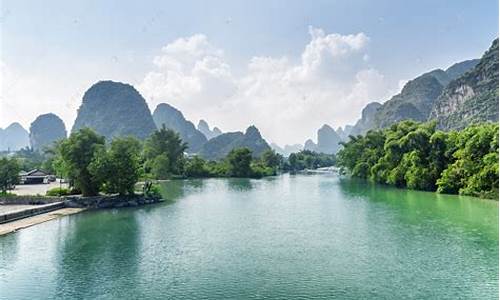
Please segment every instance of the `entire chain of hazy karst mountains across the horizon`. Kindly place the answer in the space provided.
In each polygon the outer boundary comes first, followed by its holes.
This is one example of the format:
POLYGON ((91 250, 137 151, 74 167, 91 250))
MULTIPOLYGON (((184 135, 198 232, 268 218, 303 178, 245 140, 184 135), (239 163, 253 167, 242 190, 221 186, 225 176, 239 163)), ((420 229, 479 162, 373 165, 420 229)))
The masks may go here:
MULTIPOLYGON (((272 148, 283 155, 301 149, 336 153, 339 142, 350 135, 382 129, 402 120, 424 122, 437 120, 444 130, 463 128, 475 122, 498 121, 498 39, 481 59, 466 60, 446 70, 432 70, 410 80, 401 92, 384 103, 372 102, 361 112, 354 125, 334 130, 324 124, 317 139, 300 144, 272 148)), ((117 136, 145 139, 154 130, 165 126, 179 133, 188 143, 188 152, 206 159, 220 159, 231 149, 249 147, 258 156, 271 146, 255 126, 243 132, 222 133, 200 120, 198 126, 186 120, 181 111, 167 103, 159 104, 151 114, 145 99, 131 85, 100 81, 84 94, 72 128, 90 127, 107 140, 117 136)), ((66 136, 66 129, 54 114, 39 116, 30 133, 18 123, 0 129, 0 150, 19 150, 31 145, 35 150, 66 136)))

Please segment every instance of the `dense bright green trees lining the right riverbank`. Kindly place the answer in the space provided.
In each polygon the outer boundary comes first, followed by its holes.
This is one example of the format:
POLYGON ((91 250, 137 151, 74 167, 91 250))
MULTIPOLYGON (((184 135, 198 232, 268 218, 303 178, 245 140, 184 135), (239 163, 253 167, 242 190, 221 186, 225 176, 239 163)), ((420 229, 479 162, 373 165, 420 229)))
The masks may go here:
POLYGON ((402 121, 351 136, 337 165, 376 183, 498 199, 498 124, 444 132, 435 121, 402 121))

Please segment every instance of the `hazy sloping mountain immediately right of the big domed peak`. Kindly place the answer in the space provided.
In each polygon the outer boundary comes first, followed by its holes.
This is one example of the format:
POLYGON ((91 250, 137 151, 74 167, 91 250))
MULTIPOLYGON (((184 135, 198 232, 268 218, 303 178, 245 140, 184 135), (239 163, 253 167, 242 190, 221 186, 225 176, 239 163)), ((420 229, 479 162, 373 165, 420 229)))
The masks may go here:
POLYGON ((153 112, 153 120, 158 128, 165 125, 166 128, 177 131, 182 140, 188 143, 188 152, 197 152, 207 141, 205 135, 184 118, 182 112, 169 104, 158 104, 153 112))

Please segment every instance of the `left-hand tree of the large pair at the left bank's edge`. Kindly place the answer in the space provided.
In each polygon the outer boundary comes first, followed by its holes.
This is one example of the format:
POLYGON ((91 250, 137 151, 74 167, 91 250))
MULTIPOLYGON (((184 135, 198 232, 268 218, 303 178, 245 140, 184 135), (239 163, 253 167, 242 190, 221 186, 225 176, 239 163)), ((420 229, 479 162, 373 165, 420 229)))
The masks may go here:
POLYGON ((102 179, 94 176, 89 166, 96 152, 103 151, 104 144, 103 136, 84 128, 73 132, 58 145, 55 163, 58 173, 68 176, 75 187, 82 191, 83 196, 95 196, 99 193, 102 179))

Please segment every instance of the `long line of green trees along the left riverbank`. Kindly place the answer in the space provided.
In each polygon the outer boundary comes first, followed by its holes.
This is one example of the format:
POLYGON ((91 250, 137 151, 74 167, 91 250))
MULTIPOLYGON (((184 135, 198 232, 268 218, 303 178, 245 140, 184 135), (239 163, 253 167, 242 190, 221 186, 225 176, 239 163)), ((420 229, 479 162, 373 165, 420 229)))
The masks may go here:
MULTIPOLYGON (((1 158, 0 189, 4 193, 18 182, 21 169, 41 168, 68 179, 74 193, 129 195, 139 180, 170 178, 246 177, 261 178, 279 172, 331 166, 333 155, 312 151, 293 153, 288 159, 273 150, 255 158, 248 148, 232 149, 225 159, 207 161, 185 152, 179 134, 164 126, 144 142, 117 137, 106 142, 89 128, 73 132, 43 153, 23 149, 14 157, 1 158)), ((58 192, 60 194, 60 191, 58 192)))

